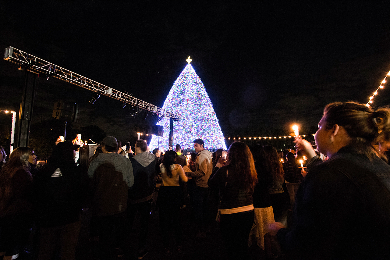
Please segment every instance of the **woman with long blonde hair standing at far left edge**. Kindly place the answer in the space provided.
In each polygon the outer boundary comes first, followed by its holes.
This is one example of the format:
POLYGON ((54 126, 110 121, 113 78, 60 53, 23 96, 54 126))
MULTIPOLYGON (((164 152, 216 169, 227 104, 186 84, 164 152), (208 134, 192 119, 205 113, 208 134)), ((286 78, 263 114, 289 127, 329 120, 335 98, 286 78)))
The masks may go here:
POLYGON ((0 173, 0 256, 4 259, 18 258, 31 232, 31 158, 35 158, 31 148, 18 147, 0 173))

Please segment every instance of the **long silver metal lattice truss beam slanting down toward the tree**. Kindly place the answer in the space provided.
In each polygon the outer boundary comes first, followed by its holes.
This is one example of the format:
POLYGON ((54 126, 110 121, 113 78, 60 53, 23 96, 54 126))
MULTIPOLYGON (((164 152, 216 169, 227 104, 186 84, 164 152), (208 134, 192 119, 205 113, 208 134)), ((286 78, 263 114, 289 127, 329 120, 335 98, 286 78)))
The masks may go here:
POLYGON ((11 46, 5 48, 4 60, 20 65, 21 69, 27 69, 28 71, 37 74, 44 73, 47 77, 55 77, 60 80, 64 80, 79 87, 94 91, 98 94, 102 94, 110 98, 115 98, 116 100, 120 100, 123 103, 144 109, 148 112, 176 120, 180 119, 180 116, 177 114, 164 110, 153 104, 144 102, 138 98, 130 96, 127 93, 123 93, 111 87, 107 87, 106 85, 100 84, 99 82, 83 77, 77 73, 64 69, 48 61, 44 61, 43 59, 28 54, 27 52, 22 52, 21 50, 11 46))

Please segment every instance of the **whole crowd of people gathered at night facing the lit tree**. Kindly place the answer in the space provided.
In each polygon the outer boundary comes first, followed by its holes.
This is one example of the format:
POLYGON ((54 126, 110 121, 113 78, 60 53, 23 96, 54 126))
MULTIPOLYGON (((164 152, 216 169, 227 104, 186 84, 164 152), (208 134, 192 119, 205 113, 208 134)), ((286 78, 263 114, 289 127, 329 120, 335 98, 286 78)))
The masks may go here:
POLYGON ((51 259, 57 244, 61 259, 75 259, 85 201, 101 259, 147 255, 152 204, 160 217, 160 246, 167 256, 181 253, 180 212, 187 193, 198 227, 194 236, 205 239, 215 218, 230 259, 250 259, 250 247, 259 249, 258 259, 280 252, 294 259, 387 259, 390 109, 330 103, 318 128, 315 143, 295 137, 297 151, 233 142, 227 153, 211 153, 195 139, 191 158, 179 144, 151 152, 144 140, 137 140, 133 154, 131 146, 122 151, 107 136, 85 171, 77 166, 81 135, 72 142, 58 137, 41 169, 31 148, 16 148, 5 160, 0 146, 0 259, 18 258, 34 223, 36 259, 51 259), (298 162, 303 157, 304 167, 298 162), (218 201, 216 216, 210 214, 210 194, 218 201), (140 235, 132 252, 129 232, 137 212, 140 235))

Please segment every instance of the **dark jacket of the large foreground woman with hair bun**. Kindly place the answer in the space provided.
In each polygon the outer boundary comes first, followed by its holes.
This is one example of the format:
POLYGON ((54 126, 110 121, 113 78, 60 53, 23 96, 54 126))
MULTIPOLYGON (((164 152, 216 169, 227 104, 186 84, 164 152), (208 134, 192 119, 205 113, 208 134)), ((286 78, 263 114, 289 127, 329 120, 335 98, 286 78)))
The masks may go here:
POLYGON ((310 169, 277 237, 300 259, 387 259, 389 234, 390 166, 344 147, 310 169))

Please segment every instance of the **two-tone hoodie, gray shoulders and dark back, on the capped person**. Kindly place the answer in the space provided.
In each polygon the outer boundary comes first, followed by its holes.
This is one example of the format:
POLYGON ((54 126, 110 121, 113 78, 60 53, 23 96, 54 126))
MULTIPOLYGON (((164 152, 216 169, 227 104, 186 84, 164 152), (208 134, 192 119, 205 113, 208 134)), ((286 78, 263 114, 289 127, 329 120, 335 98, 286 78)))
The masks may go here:
POLYGON ((100 153, 89 165, 95 216, 119 214, 127 208, 128 189, 134 184, 131 161, 118 153, 100 153))

